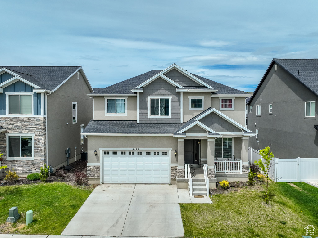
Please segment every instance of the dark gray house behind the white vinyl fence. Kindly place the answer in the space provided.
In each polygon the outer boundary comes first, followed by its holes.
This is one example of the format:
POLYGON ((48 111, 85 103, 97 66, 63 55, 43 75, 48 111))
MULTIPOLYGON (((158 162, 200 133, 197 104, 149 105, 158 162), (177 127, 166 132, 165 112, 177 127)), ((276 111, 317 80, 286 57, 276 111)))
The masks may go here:
POLYGON ((317 158, 318 59, 273 59, 248 103, 250 147, 317 158))

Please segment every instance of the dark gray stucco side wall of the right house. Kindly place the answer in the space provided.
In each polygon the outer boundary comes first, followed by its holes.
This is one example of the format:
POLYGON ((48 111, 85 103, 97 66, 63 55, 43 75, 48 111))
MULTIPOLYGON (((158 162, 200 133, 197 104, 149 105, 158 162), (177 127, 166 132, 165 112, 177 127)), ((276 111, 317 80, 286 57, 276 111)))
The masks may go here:
POLYGON ((275 71, 273 66, 250 105, 248 129, 254 133, 259 130, 258 139, 249 138, 250 147, 270 146, 277 158, 317 157, 318 131, 314 129, 314 125, 318 125, 317 96, 287 71, 279 65, 275 71), (307 101, 316 102, 315 117, 305 117, 307 101), (272 113, 269 113, 269 104, 273 104, 272 113), (260 116, 256 116, 256 105, 261 105, 260 116))

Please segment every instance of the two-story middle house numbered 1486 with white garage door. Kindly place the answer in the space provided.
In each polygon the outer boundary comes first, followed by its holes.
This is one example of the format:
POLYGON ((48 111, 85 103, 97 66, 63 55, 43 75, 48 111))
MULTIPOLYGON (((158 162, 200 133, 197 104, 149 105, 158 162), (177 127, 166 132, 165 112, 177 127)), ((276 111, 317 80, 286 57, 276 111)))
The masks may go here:
POLYGON ((186 163, 202 176, 199 167, 207 164, 215 186, 215 158, 218 172, 232 155, 242 160, 231 161, 239 171, 223 171, 218 180, 247 180, 248 137, 253 134, 245 128, 245 92, 173 64, 88 95, 93 97, 93 120, 82 135, 88 142, 90 183, 186 187, 186 163))

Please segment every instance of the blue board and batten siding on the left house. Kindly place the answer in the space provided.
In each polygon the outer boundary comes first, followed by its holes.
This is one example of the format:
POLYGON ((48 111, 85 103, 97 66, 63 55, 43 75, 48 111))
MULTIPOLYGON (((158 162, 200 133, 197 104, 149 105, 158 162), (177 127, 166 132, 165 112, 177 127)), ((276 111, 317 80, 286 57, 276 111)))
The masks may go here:
MULTIPOLYGON (((2 76, 3 74, 1 74, 0 76, 2 76)), ((1 81, 2 81, 2 78, 1 78, 1 81)), ((33 89, 34 87, 31 87, 30 85, 21 81, 17 81, 7 87, 4 87, 2 96, 0 95, 0 115, 7 114, 6 94, 5 94, 6 92, 33 92, 33 89)), ((41 94, 36 92, 34 92, 33 94, 33 115, 41 115, 41 94)))

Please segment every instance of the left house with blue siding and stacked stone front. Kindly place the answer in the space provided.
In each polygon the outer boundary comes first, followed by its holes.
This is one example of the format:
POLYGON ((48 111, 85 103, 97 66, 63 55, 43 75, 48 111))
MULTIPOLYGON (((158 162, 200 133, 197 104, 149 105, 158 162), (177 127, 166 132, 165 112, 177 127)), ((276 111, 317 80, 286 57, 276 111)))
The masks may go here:
MULTIPOLYGON (((81 66, 0 66, 1 165, 19 176, 79 159, 93 116, 93 89, 81 66), (77 149, 75 149, 77 147, 77 149)), ((1 174, 0 174, 1 175, 1 174)))

